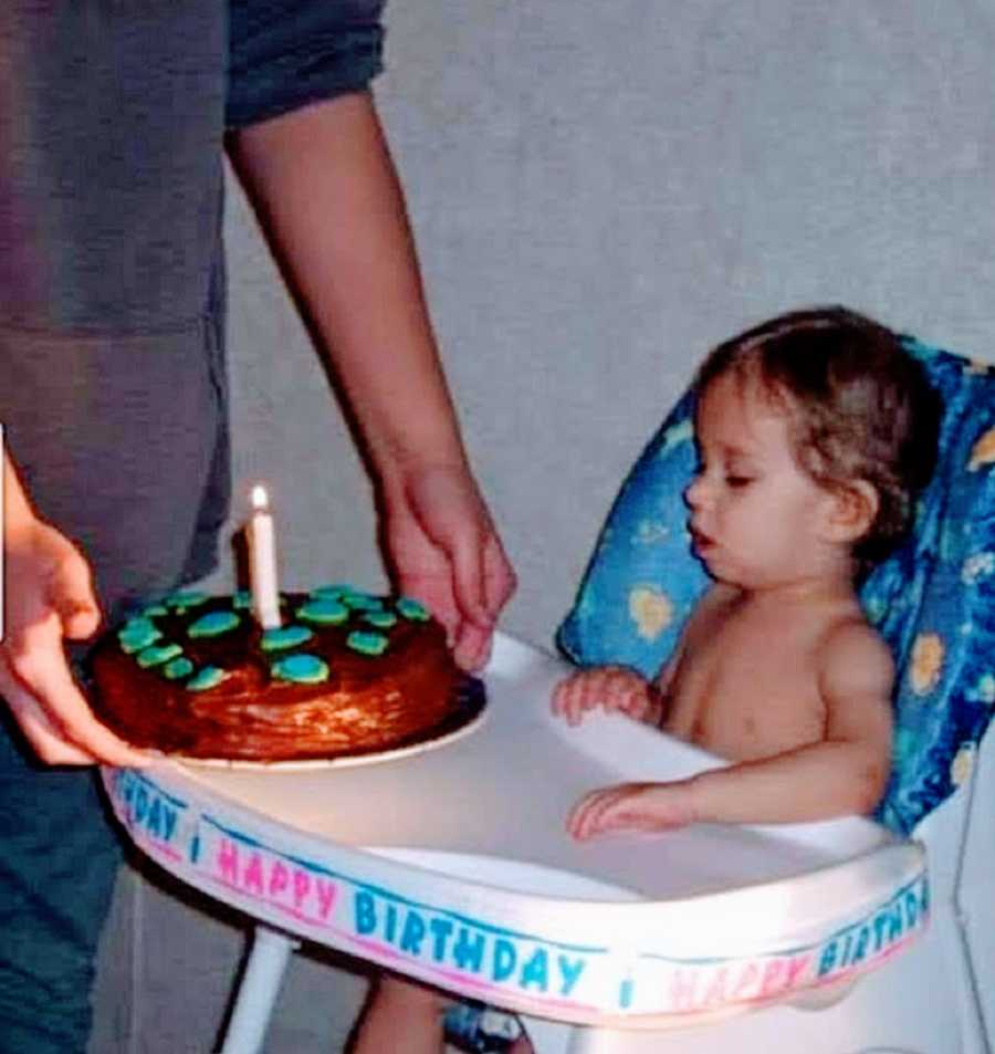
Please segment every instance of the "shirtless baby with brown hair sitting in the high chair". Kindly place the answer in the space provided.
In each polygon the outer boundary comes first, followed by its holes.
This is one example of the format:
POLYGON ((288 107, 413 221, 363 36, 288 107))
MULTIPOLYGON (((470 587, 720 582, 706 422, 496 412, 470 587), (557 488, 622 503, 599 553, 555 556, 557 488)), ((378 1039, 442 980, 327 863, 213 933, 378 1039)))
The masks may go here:
POLYGON ((888 782, 893 666, 856 587, 910 524, 939 400, 894 334, 838 307, 720 345, 696 392, 685 501, 713 584, 653 680, 583 670, 553 709, 618 710, 734 763, 593 791, 576 838, 866 814, 888 782))

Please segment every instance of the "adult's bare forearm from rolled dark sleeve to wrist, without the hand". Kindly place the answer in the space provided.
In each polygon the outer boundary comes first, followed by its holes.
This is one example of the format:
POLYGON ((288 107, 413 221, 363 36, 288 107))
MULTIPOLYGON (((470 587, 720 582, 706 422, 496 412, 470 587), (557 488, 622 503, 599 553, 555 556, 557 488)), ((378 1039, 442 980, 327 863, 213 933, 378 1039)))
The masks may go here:
POLYGON ((240 133, 232 157, 384 486, 463 465, 404 196, 373 100, 346 95, 240 133))

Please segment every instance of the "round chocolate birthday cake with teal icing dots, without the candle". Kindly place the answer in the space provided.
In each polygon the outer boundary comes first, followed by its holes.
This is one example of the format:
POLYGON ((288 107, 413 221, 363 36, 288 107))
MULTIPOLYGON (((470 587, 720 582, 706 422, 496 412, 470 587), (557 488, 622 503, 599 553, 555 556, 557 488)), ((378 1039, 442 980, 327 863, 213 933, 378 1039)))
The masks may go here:
POLYGON ((147 605, 94 648, 94 712, 136 747, 281 762, 413 745, 482 710, 482 685, 417 601, 322 586, 280 603, 275 629, 249 594, 147 605))

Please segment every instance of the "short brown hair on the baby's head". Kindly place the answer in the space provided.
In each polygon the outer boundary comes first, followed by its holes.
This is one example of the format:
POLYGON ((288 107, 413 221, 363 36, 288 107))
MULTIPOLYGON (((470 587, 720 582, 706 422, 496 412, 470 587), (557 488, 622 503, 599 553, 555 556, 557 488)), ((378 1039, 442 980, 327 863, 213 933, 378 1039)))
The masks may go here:
POLYGON ((734 373, 787 414, 795 458, 821 487, 866 480, 879 508, 853 547, 884 556, 911 526, 933 472, 940 398, 887 326, 846 307, 778 315, 720 344, 696 386, 734 373))

